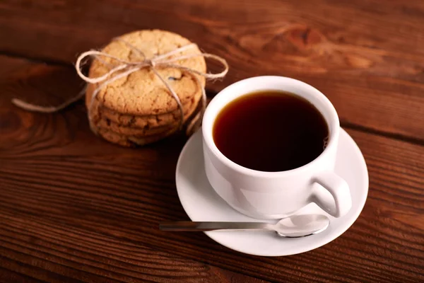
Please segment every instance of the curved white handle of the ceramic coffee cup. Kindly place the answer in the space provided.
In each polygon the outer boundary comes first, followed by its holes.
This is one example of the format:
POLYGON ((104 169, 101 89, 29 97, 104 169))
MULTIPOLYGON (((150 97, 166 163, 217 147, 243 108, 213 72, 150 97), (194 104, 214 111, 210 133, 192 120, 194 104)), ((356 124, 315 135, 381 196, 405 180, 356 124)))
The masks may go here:
POLYGON ((320 173, 313 182, 322 186, 312 192, 313 202, 334 217, 341 217, 348 213, 352 207, 352 198, 348 183, 343 178, 328 171, 320 173), (328 192, 322 188, 330 192, 334 202, 329 198, 328 192))

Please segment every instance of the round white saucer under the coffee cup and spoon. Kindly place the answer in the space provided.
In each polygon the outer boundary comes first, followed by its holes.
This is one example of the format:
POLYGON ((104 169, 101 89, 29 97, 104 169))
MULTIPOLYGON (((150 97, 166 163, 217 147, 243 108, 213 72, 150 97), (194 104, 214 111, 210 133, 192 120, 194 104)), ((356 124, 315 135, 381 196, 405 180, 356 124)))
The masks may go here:
MULTIPOLYGON (((367 166, 360 149, 343 129, 339 142, 336 173, 351 188, 352 208, 341 218, 329 216, 331 224, 326 231, 304 238, 281 238, 267 231, 210 231, 205 232, 206 235, 232 250, 265 256, 305 253, 333 241, 358 218, 368 193, 367 166)), ((260 221, 232 209, 208 183, 204 171, 201 131, 187 141, 179 155, 176 183, 179 200, 192 221, 260 221)), ((316 204, 309 204, 300 213, 324 212, 316 204)))

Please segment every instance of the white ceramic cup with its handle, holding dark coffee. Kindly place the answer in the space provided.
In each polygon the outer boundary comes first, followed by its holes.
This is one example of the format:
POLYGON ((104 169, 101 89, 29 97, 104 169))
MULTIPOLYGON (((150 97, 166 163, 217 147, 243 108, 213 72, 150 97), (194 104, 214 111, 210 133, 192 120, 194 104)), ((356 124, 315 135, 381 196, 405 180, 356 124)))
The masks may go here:
POLYGON ((340 217, 351 209, 352 200, 348 184, 334 173, 339 132, 334 106, 316 88, 282 76, 245 79, 220 91, 206 108, 202 125, 206 175, 218 195, 247 216, 279 219, 315 202, 331 216, 340 217), (240 166, 218 150, 213 124, 220 110, 235 98, 266 90, 295 93, 321 112, 329 126, 329 141, 314 161, 289 171, 263 172, 240 166))

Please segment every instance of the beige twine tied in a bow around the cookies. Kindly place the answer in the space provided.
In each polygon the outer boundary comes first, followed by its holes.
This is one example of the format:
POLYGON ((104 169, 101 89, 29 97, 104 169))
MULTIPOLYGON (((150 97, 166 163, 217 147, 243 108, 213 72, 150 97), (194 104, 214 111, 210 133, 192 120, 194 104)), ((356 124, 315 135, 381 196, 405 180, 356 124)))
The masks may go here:
MULTIPOLYGON (((137 54, 140 55, 141 60, 140 61, 134 61, 134 62, 128 61, 128 60, 121 59, 119 57, 113 56, 111 54, 107 54, 105 52, 100 52, 100 51, 97 51, 97 50, 90 50, 90 51, 87 51, 87 52, 83 52, 83 54, 81 54, 78 57, 78 59, 76 60, 76 66, 75 66, 76 72, 77 72, 78 76, 81 77, 81 79, 83 79, 87 83, 100 83, 100 86, 98 86, 98 88, 96 88, 95 91, 93 92, 93 95, 92 95, 91 100, 90 100, 90 107, 88 109, 88 119, 90 120, 90 126, 92 126, 91 128, 94 129, 95 127, 93 127, 93 125, 92 125, 90 111, 92 110, 93 102, 94 102, 95 98, 98 96, 98 93, 100 92, 100 90, 104 86, 106 86, 107 84, 112 83, 113 81, 116 81, 118 79, 124 78, 126 76, 129 76, 129 74, 132 74, 135 71, 139 71, 141 69, 149 68, 153 71, 155 76, 158 76, 158 79, 160 79, 160 81, 163 82, 163 84, 166 86, 168 91, 170 91, 170 94, 172 95, 172 97, 177 102, 177 105, 178 105, 178 108, 179 108, 179 113, 180 113, 180 116, 181 116, 180 120, 179 120, 179 129, 181 129, 183 122, 184 122, 184 109, 183 109, 181 100, 179 99, 177 93, 175 93, 175 91, 172 89, 170 84, 167 83, 167 81, 163 78, 163 76, 160 76, 160 74, 158 73, 158 68, 175 68, 175 69, 179 69, 181 71, 184 71, 186 73, 191 74, 196 79, 196 83, 199 86, 199 88, 201 89, 201 110, 196 113, 196 115, 194 116, 192 121, 189 123, 189 125, 187 125, 187 133, 193 132, 194 126, 199 125, 198 122, 201 119, 201 117, 203 116, 204 110, 206 108, 206 92, 205 92, 204 86, 201 85, 201 81, 195 75, 203 76, 206 79, 223 78, 225 76, 225 74, 227 74, 227 72, 228 72, 228 64, 225 61, 225 59, 223 59, 222 57, 219 57, 217 55, 214 55, 214 54, 208 54, 208 53, 203 53, 203 52, 197 53, 197 54, 183 54, 183 55, 179 55, 179 56, 175 56, 175 57, 170 58, 171 56, 178 54, 179 52, 184 52, 186 50, 189 50, 191 48, 196 47, 196 44, 194 44, 194 43, 191 43, 189 45, 185 45, 183 47, 179 47, 175 50, 172 50, 172 51, 167 52, 165 54, 160 54, 160 55, 154 56, 154 57, 149 59, 149 58, 146 57, 146 54, 144 54, 143 51, 139 50, 139 48, 135 47, 134 45, 131 45, 129 42, 126 42, 125 40, 122 40, 121 38, 116 38, 114 40, 124 42, 124 44, 127 45, 129 48, 131 48, 131 50, 133 50, 134 52, 136 52, 137 54), (81 65, 83 64, 84 59, 86 59, 86 57, 95 57, 95 59, 98 59, 100 62, 102 62, 103 64, 110 67, 110 70, 107 71, 106 74, 103 74, 102 76, 98 76, 98 77, 91 77, 90 78, 90 77, 84 75, 81 71, 81 65), (103 59, 101 59, 101 57, 108 57, 110 59, 113 59, 116 62, 119 62, 119 64, 116 67, 113 67, 112 64, 105 62, 103 59), (197 71, 197 70, 189 68, 189 67, 184 67, 182 65, 175 64, 179 60, 191 59, 191 58, 195 58, 195 57, 204 57, 204 58, 208 58, 208 59, 213 59, 216 62, 222 64, 224 69, 223 69, 223 71, 221 71, 220 73, 217 73, 217 74, 207 74, 207 73, 203 73, 201 71, 197 71)), ((64 103, 61 103, 61 105, 58 105, 58 106, 55 106, 55 107, 43 107, 43 106, 39 106, 39 105, 33 105, 33 104, 30 104, 30 103, 25 103, 24 101, 18 100, 16 98, 14 98, 12 100, 12 102, 15 105, 17 105, 18 107, 23 108, 25 110, 36 111, 36 112, 57 112, 57 111, 59 111, 63 108, 66 108, 66 106, 68 106, 71 103, 75 102, 76 100, 80 99, 82 96, 83 96, 83 92, 78 93, 77 96, 75 96, 75 97, 65 101, 64 103)))

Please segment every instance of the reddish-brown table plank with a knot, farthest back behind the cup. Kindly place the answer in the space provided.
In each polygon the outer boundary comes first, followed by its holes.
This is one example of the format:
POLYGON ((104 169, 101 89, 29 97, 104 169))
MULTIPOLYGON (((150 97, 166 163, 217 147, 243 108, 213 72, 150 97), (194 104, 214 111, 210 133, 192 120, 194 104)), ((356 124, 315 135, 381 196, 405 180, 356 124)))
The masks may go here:
POLYGON ((172 30, 228 59, 211 91, 290 76, 324 92, 343 123, 422 142, 423 16, 420 0, 5 0, 0 51, 71 63, 131 30, 172 30))

